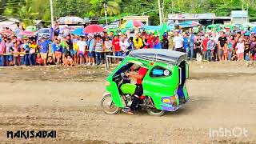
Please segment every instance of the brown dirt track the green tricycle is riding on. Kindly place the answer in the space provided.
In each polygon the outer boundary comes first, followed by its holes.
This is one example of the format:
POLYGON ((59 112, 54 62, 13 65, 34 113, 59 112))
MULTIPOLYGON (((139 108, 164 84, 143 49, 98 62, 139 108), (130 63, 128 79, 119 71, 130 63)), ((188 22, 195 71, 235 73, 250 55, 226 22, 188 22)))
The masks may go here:
POLYGON ((256 68, 243 62, 190 64, 191 101, 162 117, 104 114, 103 68, 0 69, 0 142, 256 143, 256 68), (247 137, 210 137, 236 127, 247 137), (7 139, 6 130, 57 130, 55 139, 7 139))

